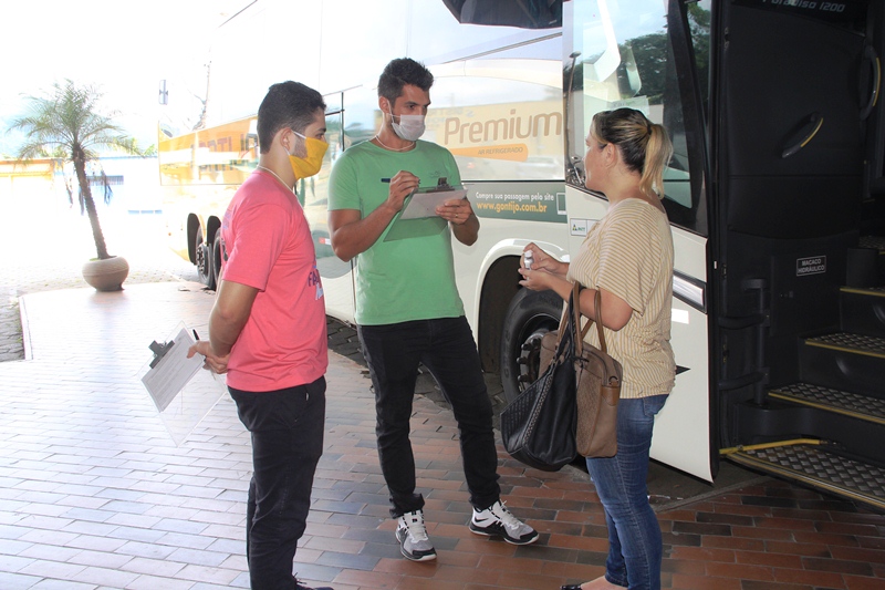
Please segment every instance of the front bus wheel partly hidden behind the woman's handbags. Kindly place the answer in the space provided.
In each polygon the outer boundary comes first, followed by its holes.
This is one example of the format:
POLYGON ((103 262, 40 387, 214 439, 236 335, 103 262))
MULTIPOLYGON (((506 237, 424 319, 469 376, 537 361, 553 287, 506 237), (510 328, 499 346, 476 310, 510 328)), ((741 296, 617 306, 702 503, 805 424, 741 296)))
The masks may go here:
POLYGON ((553 291, 520 289, 510 301, 501 337, 501 385, 512 402, 538 379, 541 339, 559 328, 562 298, 553 291))

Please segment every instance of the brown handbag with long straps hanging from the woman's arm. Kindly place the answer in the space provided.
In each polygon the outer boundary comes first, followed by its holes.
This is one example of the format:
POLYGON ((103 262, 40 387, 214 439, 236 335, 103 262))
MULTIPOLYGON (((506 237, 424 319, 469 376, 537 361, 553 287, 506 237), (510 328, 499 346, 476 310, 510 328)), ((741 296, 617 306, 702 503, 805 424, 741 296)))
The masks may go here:
MULTIPOLYGON (((575 282, 571 299, 579 301, 581 286, 575 282)), ((596 289, 596 318, 602 318, 602 293, 596 289)), ((568 331, 577 332, 581 325, 581 308, 570 304, 560 322, 568 323, 568 331), (571 313, 570 313, 571 311, 571 313)), ((575 444, 577 453, 584 457, 612 457, 617 453, 617 403, 621 400, 623 369, 605 345, 602 322, 597 321, 600 349, 584 342, 584 337, 594 322, 589 320, 574 338, 575 397, 577 404, 577 428, 575 444)), ((541 341, 541 371, 553 358, 559 345, 559 333, 544 334, 541 341)))

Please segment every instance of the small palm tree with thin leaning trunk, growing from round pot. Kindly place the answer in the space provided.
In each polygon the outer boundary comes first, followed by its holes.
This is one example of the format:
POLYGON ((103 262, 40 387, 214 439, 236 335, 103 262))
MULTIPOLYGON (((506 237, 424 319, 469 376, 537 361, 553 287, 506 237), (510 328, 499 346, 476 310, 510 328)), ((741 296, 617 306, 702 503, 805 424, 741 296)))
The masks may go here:
POLYGON ((98 214, 86 177, 86 164, 98 159, 96 148, 110 147, 146 156, 150 155, 153 146, 147 151, 139 149, 135 139, 125 135, 112 122, 116 112, 100 112, 98 102, 103 94, 97 87, 77 86, 71 80, 65 80, 63 84, 56 82, 52 87, 45 96, 28 96, 25 100, 30 104, 29 113, 12 121, 10 131, 20 130, 25 135, 17 158, 24 161, 61 156, 62 162, 73 163, 80 185, 81 205, 90 218, 98 260, 105 260, 112 257, 107 253, 102 226, 98 224, 98 214))

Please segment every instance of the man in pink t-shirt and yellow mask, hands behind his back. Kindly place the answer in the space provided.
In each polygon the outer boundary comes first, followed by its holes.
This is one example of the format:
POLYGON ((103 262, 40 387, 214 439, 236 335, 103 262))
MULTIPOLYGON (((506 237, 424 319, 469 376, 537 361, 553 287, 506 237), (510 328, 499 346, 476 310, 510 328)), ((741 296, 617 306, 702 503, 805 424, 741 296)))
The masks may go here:
POLYGON ((258 110, 258 166, 221 225, 226 261, 209 340, 190 353, 227 373, 252 435, 246 518, 252 589, 310 590, 292 576, 292 560, 323 452, 329 351, 316 255, 293 186, 320 170, 324 138, 320 93, 296 82, 270 87, 258 110))

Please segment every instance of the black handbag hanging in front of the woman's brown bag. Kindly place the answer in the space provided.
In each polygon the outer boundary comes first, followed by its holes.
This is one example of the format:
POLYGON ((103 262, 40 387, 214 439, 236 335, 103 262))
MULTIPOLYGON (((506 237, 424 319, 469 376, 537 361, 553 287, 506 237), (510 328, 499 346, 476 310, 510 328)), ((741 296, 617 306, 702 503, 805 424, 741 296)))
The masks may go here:
MULTIPOLYGON (((570 298, 569 307, 572 301, 570 298)), ((556 472, 577 456, 574 324, 568 327, 541 376, 501 412, 501 439, 529 467, 556 472)))

